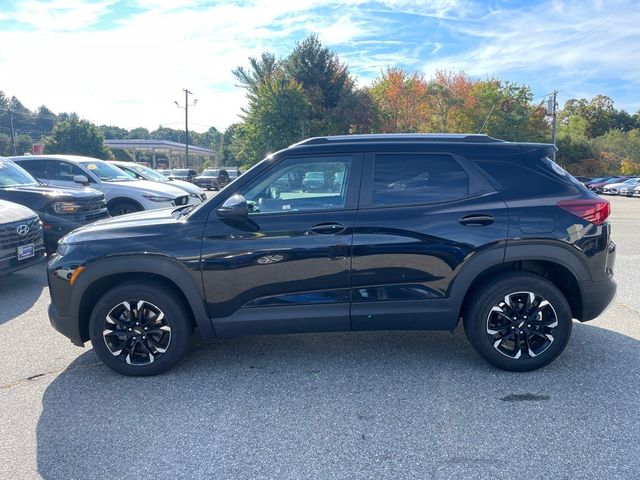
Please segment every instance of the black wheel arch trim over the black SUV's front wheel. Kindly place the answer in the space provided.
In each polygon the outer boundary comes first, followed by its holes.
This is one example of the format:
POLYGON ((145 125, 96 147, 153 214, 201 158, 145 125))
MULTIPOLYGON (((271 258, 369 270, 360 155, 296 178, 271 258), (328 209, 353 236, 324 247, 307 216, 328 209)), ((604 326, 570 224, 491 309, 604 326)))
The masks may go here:
MULTIPOLYGON (((211 321, 207 316, 201 285, 194 281, 178 260, 157 254, 123 255, 103 258, 87 264, 73 286, 69 302, 70 305, 74 305, 73 313, 77 319, 78 326, 81 321, 88 320, 80 318, 81 301, 87 289, 100 279, 123 273, 157 275, 177 285, 191 307, 194 321, 202 338, 215 337, 211 321)), ((83 340, 86 341, 86 339, 83 340)))

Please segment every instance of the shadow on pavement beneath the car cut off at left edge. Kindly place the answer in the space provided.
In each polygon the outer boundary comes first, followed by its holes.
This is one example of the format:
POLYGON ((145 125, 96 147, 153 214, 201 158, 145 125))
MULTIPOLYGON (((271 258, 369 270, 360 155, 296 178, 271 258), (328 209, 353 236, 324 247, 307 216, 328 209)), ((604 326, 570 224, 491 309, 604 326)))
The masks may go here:
POLYGON ((28 311, 46 286, 44 264, 0 276, 0 325, 28 311))

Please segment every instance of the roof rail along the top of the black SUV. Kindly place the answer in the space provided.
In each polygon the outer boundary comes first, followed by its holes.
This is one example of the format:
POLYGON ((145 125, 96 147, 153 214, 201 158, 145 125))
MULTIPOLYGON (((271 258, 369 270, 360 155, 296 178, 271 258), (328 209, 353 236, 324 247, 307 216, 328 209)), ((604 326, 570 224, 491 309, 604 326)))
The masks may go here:
POLYGON ((365 135, 330 135, 312 137, 295 144, 320 145, 326 143, 353 142, 462 142, 462 143, 495 143, 504 142, 485 134, 477 133, 380 133, 365 135))

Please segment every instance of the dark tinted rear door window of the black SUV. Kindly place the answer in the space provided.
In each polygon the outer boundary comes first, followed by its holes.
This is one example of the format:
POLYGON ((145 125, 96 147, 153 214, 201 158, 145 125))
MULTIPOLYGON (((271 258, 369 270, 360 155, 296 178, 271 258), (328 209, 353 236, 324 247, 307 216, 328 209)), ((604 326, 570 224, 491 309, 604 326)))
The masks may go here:
POLYGON ((448 155, 376 155, 374 205, 417 205, 467 196, 469 177, 448 155))

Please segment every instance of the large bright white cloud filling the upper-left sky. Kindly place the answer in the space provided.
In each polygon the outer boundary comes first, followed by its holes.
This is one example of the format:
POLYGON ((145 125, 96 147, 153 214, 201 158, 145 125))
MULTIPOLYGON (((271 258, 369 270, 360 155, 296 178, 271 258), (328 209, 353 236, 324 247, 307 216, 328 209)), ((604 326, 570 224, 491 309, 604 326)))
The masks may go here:
POLYGON ((158 124, 180 125, 184 114, 182 88, 198 98, 190 109, 196 130, 224 128, 238 120, 244 92, 234 87, 231 70, 247 57, 284 45, 285 54, 297 38, 314 31, 323 41, 357 38, 362 26, 348 14, 312 22, 308 9, 321 0, 220 3, 182 8, 187 2, 139 0, 149 10, 122 19, 107 30, 52 28, 53 20, 89 27, 113 2, 89 4, 55 0, 50 8, 30 1, 11 14, 31 22, 32 31, 0 31, 0 43, 16 48, 3 51, 2 88, 35 108, 76 111, 97 123, 133 128, 158 124), (29 14, 40 9, 31 17, 29 14), (44 13, 42 13, 44 12, 44 13), (335 20, 335 21, 334 21, 335 20), (327 40, 329 38, 330 40, 327 40), (197 126, 196 124, 199 124, 197 126))

